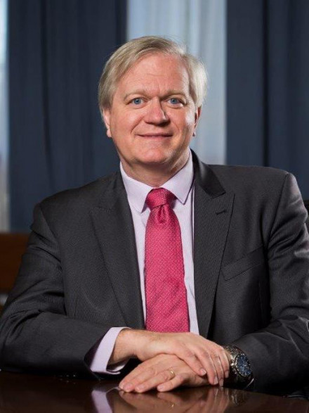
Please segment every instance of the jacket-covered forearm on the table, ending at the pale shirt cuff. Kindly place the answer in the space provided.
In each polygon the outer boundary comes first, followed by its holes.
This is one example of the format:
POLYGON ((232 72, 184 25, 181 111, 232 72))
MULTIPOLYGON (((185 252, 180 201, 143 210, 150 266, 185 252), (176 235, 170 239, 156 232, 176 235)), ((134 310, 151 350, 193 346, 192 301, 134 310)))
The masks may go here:
POLYGON ((19 312, 1 320, 0 367, 14 371, 91 374, 84 357, 103 335, 102 326, 63 314, 19 312))

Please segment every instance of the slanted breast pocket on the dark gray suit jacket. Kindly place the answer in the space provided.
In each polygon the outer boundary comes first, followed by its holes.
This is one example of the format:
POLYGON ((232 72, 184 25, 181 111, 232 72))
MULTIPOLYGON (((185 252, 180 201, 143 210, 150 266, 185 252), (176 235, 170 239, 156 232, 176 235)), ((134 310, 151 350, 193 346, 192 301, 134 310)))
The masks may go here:
POLYGON ((264 251, 263 246, 261 246, 256 248, 256 250, 251 251, 251 253, 245 255, 243 258, 225 265, 222 269, 223 277, 225 280, 235 278, 246 272, 248 269, 263 264, 264 261, 264 251))

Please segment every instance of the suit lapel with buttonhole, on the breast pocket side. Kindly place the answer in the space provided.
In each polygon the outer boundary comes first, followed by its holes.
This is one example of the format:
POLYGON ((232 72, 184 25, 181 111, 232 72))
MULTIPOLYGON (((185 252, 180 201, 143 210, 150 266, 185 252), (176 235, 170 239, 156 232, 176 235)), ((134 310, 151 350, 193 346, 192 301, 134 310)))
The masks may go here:
POLYGON ((230 225, 234 194, 225 193, 212 170, 199 163, 196 158, 195 177, 195 303, 199 334, 206 337, 230 225))

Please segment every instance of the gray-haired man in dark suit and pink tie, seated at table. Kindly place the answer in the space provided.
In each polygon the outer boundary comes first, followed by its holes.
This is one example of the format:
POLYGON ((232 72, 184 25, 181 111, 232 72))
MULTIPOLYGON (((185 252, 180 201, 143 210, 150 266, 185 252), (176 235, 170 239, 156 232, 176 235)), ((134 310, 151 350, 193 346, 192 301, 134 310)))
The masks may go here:
POLYGON ((112 55, 99 103, 121 171, 37 205, 1 368, 98 376, 137 358, 128 392, 308 379, 307 212, 291 174, 190 152, 205 86, 169 40, 112 55))

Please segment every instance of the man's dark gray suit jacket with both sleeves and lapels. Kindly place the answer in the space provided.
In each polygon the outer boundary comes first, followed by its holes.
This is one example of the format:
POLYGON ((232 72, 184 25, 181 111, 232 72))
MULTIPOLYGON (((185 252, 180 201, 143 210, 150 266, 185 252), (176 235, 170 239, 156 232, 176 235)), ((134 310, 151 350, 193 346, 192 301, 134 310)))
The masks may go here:
MULTIPOLYGON (((199 333, 242 348, 256 390, 297 388, 309 375, 309 236, 296 180, 194 162, 199 333)), ((91 374, 85 356, 111 326, 144 328, 119 172, 37 205, 1 318, 0 366, 91 374)))

